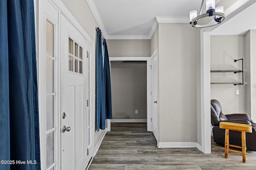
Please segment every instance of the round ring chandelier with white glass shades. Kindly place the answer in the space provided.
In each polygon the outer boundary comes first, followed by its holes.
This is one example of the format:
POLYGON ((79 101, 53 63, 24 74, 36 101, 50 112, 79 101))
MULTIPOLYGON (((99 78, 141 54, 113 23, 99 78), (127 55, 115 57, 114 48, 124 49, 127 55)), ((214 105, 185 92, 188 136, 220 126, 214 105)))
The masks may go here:
POLYGON ((223 6, 219 6, 215 9, 215 0, 206 0, 206 13, 201 14, 204 1, 205 0, 202 1, 199 16, 197 16, 196 10, 190 11, 189 18, 190 18, 190 24, 192 25, 192 27, 198 27, 198 28, 210 27, 210 26, 221 23, 225 19, 225 14, 223 13, 224 11, 223 6), (214 22, 200 24, 199 20, 205 17, 213 17, 214 22))

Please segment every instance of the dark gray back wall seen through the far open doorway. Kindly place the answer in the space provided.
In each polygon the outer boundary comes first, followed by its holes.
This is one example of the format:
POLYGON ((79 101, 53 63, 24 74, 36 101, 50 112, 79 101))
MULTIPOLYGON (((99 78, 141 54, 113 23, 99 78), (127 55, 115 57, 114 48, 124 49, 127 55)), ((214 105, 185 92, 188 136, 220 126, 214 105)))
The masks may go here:
POLYGON ((147 119, 146 62, 112 61, 111 90, 113 119, 147 119))

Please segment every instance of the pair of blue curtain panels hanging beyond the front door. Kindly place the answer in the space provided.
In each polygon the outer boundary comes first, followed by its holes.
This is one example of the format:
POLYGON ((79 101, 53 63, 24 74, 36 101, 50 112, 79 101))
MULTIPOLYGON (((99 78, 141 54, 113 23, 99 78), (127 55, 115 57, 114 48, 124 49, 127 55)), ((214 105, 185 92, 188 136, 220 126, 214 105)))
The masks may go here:
POLYGON ((96 47, 96 124, 98 131, 106 129, 106 119, 112 119, 110 68, 108 49, 102 33, 97 29, 96 47))

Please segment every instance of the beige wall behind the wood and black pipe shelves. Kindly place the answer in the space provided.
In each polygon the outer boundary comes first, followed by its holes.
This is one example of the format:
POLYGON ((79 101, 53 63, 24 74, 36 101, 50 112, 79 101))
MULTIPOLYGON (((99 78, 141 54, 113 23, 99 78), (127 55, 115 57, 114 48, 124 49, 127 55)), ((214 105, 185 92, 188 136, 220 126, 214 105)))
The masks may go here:
MULTIPOLYGON (((210 68, 211 70, 241 70, 245 59, 244 35, 211 35, 210 37, 210 68)), ((247 72, 244 73, 244 76, 247 72)), ((211 82, 242 82, 242 73, 212 72, 211 82)), ((211 99, 217 99, 224 114, 246 113, 246 85, 211 84, 211 99), (236 95, 239 90, 239 95, 236 95)))

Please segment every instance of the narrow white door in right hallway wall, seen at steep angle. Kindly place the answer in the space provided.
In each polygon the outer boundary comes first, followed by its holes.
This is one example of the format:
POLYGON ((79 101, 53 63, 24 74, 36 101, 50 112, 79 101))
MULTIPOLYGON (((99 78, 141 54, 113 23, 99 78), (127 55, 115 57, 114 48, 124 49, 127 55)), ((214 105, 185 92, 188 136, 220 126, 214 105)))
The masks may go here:
POLYGON ((158 142, 158 59, 157 54, 151 57, 152 67, 152 132, 158 142))

